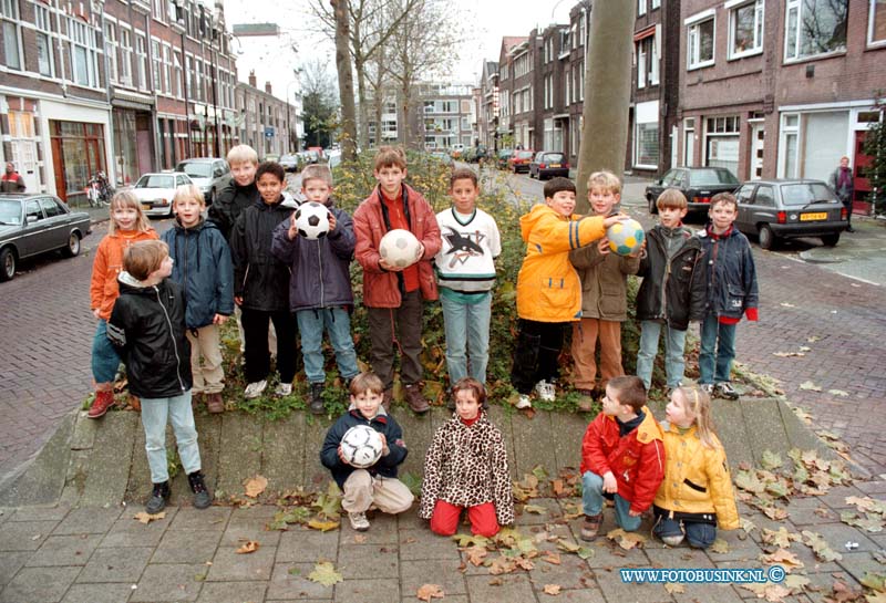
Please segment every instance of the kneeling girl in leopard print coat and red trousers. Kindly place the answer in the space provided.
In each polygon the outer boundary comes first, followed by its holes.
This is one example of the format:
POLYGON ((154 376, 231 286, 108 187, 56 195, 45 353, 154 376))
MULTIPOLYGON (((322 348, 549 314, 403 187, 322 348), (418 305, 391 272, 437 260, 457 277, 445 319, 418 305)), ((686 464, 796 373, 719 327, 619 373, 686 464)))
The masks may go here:
POLYGON ((433 532, 451 536, 466 508, 471 531, 492 537, 514 521, 507 451, 502 433, 482 408, 483 385, 465 377, 452 389, 455 413, 436 430, 424 457, 419 517, 431 520, 433 532))

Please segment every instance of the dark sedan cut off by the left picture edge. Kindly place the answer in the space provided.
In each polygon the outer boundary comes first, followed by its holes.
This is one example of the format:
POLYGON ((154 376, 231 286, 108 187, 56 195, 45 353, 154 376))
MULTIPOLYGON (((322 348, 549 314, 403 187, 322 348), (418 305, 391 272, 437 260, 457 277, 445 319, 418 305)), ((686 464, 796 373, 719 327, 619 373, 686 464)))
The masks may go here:
POLYGON ((71 211, 53 195, 0 195, 0 281, 12 279, 19 261, 38 253, 61 249, 73 258, 90 232, 90 215, 71 211))

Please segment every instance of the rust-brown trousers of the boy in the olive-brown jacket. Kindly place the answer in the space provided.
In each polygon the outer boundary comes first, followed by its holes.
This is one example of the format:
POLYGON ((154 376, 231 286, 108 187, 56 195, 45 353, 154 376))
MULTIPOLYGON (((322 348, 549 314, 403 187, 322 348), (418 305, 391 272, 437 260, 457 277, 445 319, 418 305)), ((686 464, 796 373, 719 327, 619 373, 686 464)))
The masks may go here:
POLYGON ((609 380, 625 374, 621 367, 621 323, 581 319, 573 323, 573 384, 576 389, 594 389, 597 382, 597 341, 600 342, 600 388, 609 380))

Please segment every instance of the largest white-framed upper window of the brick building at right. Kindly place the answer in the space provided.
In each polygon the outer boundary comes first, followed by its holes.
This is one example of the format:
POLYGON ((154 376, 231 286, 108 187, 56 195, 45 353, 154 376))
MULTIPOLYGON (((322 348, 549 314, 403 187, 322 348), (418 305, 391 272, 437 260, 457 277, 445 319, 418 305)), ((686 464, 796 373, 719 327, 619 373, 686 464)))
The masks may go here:
POLYGON ((845 51, 848 9, 848 0, 787 0, 785 61, 845 51))

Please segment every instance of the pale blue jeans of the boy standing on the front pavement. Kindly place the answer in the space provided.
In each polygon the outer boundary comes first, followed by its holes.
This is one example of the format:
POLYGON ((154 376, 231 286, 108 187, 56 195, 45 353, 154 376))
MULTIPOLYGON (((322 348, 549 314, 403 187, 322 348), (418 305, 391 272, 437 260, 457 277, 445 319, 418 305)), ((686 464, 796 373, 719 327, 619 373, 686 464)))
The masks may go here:
POLYGON ((169 398, 142 398, 142 426, 145 429, 145 450, 151 467, 151 481, 162 484, 169 479, 166 464, 166 418, 173 424, 178 458, 186 474, 200 470, 200 449, 197 428, 190 409, 190 389, 169 398))

